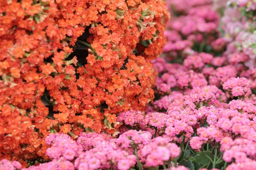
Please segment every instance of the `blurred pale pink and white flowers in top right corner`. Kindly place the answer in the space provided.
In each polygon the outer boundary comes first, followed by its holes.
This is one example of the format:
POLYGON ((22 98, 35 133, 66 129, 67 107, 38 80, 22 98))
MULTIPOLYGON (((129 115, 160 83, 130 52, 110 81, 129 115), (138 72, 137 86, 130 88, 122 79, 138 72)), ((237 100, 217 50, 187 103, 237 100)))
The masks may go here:
POLYGON ((254 0, 228 0, 221 19, 221 28, 224 31, 224 39, 227 42, 227 50, 224 55, 230 64, 244 65, 253 69, 256 66, 255 44, 256 35, 253 11, 256 10, 254 0))

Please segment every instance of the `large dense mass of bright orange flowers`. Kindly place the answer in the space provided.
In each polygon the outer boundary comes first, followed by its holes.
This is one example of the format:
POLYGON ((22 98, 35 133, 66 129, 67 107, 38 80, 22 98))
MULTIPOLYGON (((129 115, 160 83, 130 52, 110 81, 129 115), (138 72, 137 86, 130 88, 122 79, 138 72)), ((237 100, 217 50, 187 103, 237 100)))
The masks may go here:
POLYGON ((0 159, 47 159, 49 133, 117 134, 154 97, 168 19, 163 0, 0 1, 0 159))

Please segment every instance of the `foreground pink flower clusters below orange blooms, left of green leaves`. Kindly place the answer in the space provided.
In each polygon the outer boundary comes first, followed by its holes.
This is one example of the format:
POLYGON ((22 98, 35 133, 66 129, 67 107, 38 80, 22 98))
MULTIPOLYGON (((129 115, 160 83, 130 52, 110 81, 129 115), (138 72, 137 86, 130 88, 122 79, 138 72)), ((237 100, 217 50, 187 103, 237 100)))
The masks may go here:
MULTIPOLYGON (((153 149, 159 151, 167 149, 164 154, 165 161, 169 161, 170 156, 171 159, 174 159, 180 154, 179 147, 174 143, 168 143, 163 137, 153 139, 154 142, 151 142, 151 133, 147 131, 129 130, 120 135, 117 140, 113 140, 110 135, 105 133, 81 133, 77 142, 67 134, 50 134, 45 141, 51 145, 46 154, 52 161, 23 168, 23 170, 129 170, 139 160, 137 147, 140 144, 145 145, 143 157, 148 163, 152 162, 151 159, 157 159, 155 156, 148 155, 148 151, 153 151, 153 149), (95 137, 95 141, 88 147, 87 142, 92 137, 95 137)), ((0 168, 15 170, 20 169, 21 164, 4 159, 0 161, 0 168)))

